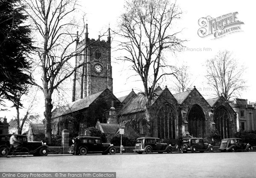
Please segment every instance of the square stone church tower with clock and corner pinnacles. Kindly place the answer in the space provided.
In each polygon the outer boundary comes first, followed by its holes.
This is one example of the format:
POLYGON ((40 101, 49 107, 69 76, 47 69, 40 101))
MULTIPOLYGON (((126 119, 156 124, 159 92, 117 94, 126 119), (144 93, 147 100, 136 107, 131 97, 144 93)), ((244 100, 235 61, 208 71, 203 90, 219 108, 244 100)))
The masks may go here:
POLYGON ((111 66, 111 36, 108 29, 107 41, 88 38, 88 27, 84 40, 79 42, 77 35, 76 67, 74 72, 72 101, 85 98, 108 88, 113 92, 113 78, 111 66))

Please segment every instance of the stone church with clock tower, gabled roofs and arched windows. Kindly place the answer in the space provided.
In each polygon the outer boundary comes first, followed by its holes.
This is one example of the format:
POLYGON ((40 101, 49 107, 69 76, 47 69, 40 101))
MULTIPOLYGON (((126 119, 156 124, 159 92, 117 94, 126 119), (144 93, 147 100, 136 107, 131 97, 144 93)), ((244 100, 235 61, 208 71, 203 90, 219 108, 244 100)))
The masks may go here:
MULTIPOLYGON (((72 103, 52 111, 52 135, 64 129, 76 135, 92 126, 114 135, 121 125, 141 137, 180 139, 187 135, 204 138, 209 129, 217 129, 221 138, 231 138, 239 130, 238 113, 223 96, 204 99, 193 89, 172 94, 168 87, 154 90, 151 121, 145 118, 143 93, 133 90, 127 96, 113 95, 111 34, 107 40, 90 39, 86 25, 84 40, 77 40, 72 103)), ((255 109, 254 109, 255 112, 255 109)), ((253 123, 253 128, 256 128, 253 123)))

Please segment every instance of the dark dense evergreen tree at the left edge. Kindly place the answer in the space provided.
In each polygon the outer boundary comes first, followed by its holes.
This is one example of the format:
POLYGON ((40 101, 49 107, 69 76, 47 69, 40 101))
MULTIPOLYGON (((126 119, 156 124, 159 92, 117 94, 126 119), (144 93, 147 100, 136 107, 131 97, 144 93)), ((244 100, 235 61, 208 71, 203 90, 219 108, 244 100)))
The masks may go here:
MULTIPOLYGON (((3 99, 15 98, 13 93, 25 90, 30 75, 27 58, 34 47, 29 26, 24 25, 27 15, 20 0, 0 0, 0 104, 3 99)), ((21 103, 20 103, 20 106, 21 103)), ((2 110, 3 107, 1 107, 2 110)))

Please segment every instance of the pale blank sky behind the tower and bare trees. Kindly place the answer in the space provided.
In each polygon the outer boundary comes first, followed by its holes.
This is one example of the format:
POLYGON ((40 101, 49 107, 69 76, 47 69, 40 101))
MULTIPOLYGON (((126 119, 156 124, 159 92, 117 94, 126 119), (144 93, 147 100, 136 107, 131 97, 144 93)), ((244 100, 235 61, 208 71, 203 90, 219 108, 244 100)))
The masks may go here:
MULTIPOLYGON (((97 39, 98 35, 106 32, 108 27, 115 30, 118 17, 124 12, 124 3, 124 0, 81 1, 80 8, 86 13, 85 23, 88 24, 89 38, 97 39)), ((183 29, 180 37, 186 39, 187 42, 184 43, 183 52, 170 55, 168 60, 171 60, 175 65, 186 63, 189 66, 192 80, 194 81, 192 86, 196 86, 199 92, 208 99, 212 94, 212 88, 207 85, 206 78, 204 77, 206 74, 206 60, 214 57, 220 50, 233 52, 234 57, 239 61, 240 65, 244 65, 247 68, 244 73, 244 79, 247 80, 247 90, 241 93, 241 98, 247 99, 248 102, 256 102, 256 60, 254 55, 256 23, 253 15, 256 3, 253 1, 241 2, 238 0, 179 0, 177 4, 183 11, 183 14, 176 25, 178 29, 183 29), (198 25, 198 20, 201 17, 211 16, 216 18, 233 12, 238 12, 236 14, 237 20, 244 23, 241 24, 240 32, 227 34, 218 39, 213 39, 213 35, 204 38, 198 36, 198 29, 201 28, 198 25)), ((126 69, 127 64, 120 63, 120 61, 116 60, 116 57, 119 55, 114 52, 117 48, 114 42, 116 36, 112 35, 112 37, 113 93, 116 97, 121 97, 131 92, 131 89, 134 89, 135 92, 143 91, 141 81, 137 80, 137 78, 129 78, 131 71, 126 69)), ((71 81, 72 79, 70 79, 71 81)), ((160 83, 160 86, 162 88, 167 86, 173 93, 171 81, 160 83)), ((67 98, 71 97, 71 92, 70 95, 67 93, 67 98)), ((44 111, 43 106, 40 106, 38 110, 42 114, 44 111)), ((15 112, 0 113, 0 117, 4 115, 12 118, 15 112)))

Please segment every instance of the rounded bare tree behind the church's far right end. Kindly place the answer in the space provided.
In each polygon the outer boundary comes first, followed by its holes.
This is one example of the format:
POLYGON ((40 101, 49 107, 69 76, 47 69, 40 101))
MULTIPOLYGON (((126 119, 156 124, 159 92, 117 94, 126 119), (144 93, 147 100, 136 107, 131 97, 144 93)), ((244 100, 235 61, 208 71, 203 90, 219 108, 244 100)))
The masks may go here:
POLYGON ((218 52, 214 58, 207 60, 208 84, 215 89, 215 95, 222 94, 226 100, 237 97, 245 86, 243 79, 244 66, 240 66, 231 52, 218 52))

